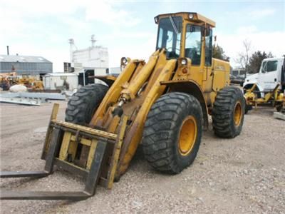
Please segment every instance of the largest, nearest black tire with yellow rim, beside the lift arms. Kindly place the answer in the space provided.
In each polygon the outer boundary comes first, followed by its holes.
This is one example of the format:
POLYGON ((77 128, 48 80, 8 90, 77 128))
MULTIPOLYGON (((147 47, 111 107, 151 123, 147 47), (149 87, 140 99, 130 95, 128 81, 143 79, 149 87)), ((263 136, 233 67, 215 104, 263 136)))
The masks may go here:
POLYGON ((155 170, 180 173, 197 156, 202 108, 194 96, 167 93, 153 104, 145 122, 142 149, 155 170))

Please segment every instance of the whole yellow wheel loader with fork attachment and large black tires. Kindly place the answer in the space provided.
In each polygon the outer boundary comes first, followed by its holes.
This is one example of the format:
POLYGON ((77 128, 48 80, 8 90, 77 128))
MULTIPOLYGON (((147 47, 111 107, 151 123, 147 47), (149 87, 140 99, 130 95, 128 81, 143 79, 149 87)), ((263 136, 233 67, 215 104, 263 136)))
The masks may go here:
POLYGON ((122 58, 118 78, 84 86, 68 101, 66 121, 53 107, 40 172, 1 172, 1 178, 44 177, 53 170, 82 175, 82 192, 1 191, 1 199, 83 200, 97 184, 112 188, 138 146, 155 170, 180 173, 197 156, 212 116, 214 133, 242 131, 244 97, 229 86, 229 63, 212 58, 214 21, 197 13, 161 14, 149 61, 122 58))

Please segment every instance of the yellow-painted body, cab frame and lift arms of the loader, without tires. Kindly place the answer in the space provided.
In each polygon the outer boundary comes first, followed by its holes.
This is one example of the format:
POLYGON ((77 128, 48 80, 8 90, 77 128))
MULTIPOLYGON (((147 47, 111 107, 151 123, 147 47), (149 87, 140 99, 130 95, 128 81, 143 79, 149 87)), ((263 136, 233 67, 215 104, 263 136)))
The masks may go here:
MULTIPOLYGON (((209 29, 215 26, 214 21, 196 13, 163 14, 155 17, 160 19, 181 17, 182 33, 180 42, 180 56, 178 58, 167 58, 165 49, 157 49, 149 61, 125 58, 124 67, 120 76, 113 81, 107 94, 95 111, 89 126, 98 128, 108 133, 120 133, 120 122, 122 116, 114 115, 115 108, 122 108, 123 116, 128 118, 123 143, 118 158, 116 176, 120 177, 127 170, 135 151, 142 138, 143 126, 152 104, 169 91, 181 91, 195 96, 201 103, 204 115, 204 128, 207 128, 207 114, 213 106, 215 96, 219 89, 229 85, 229 63, 212 58, 212 63, 205 64, 205 36, 209 29), (199 66, 192 65, 191 58, 185 57, 185 40, 187 24, 200 26, 204 31, 201 39, 201 61, 199 66), (182 61, 187 60, 186 64, 182 61)), ((66 150, 67 143, 75 136, 68 135, 63 138, 62 149, 66 150), (68 139, 68 140, 67 140, 68 139)), ((85 141, 83 138, 81 141, 85 141)), ((86 146, 86 143, 83 143, 86 146)), ((72 146, 71 146, 72 147, 72 146)), ((76 153, 76 146, 73 154, 76 153)), ((110 154, 112 156, 112 153, 110 154)), ((59 156, 62 160, 65 155, 59 156)), ((89 156, 93 158, 93 156, 89 156)), ((87 160, 90 163, 90 160, 87 160)))

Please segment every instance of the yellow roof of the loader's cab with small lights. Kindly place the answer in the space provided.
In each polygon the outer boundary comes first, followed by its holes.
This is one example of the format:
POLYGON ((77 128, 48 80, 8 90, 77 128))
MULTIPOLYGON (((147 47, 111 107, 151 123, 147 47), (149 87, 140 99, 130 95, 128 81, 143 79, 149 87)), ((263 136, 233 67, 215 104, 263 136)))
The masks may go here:
POLYGON ((157 21, 155 22, 157 23, 159 19, 165 18, 167 16, 182 16, 183 19, 187 19, 189 21, 194 21, 197 23, 206 23, 212 27, 216 26, 216 23, 214 21, 195 12, 178 12, 178 13, 172 13, 172 14, 160 14, 160 15, 155 16, 155 19, 157 19, 157 21), (192 17, 193 17, 192 19, 190 19, 190 14, 192 14, 192 17))

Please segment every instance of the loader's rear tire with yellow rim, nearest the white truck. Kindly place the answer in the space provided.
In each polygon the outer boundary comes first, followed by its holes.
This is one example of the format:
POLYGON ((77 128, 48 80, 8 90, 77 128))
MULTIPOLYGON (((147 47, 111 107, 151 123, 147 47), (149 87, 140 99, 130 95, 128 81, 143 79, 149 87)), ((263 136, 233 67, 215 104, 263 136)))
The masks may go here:
POLYGON ((236 87, 218 91, 212 110, 213 129, 216 136, 234 138, 242 131, 245 110, 244 96, 236 87))

